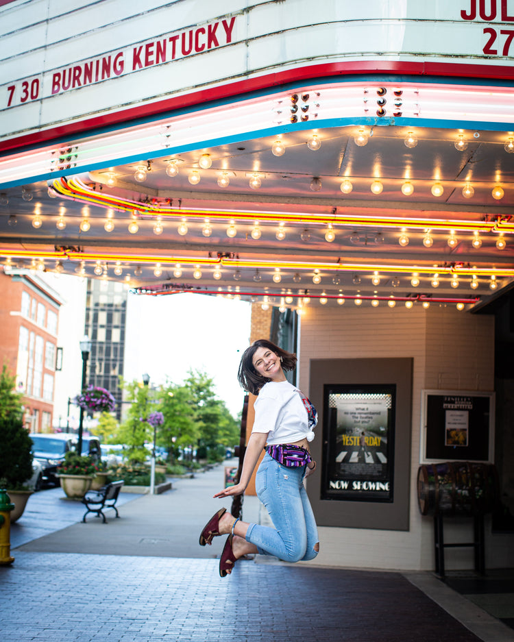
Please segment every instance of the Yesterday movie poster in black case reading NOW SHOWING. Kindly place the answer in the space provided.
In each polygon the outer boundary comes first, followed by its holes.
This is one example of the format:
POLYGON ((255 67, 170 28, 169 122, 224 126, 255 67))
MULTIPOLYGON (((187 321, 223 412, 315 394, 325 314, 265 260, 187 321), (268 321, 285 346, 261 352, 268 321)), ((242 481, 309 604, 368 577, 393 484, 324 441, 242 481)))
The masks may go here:
POLYGON ((393 501, 395 386, 325 386, 323 499, 393 501))

